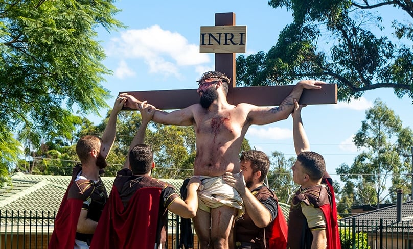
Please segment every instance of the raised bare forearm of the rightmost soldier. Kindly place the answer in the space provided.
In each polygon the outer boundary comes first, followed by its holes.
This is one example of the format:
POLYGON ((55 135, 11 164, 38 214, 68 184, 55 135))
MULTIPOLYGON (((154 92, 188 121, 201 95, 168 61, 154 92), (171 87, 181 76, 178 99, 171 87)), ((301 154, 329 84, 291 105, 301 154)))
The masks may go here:
POLYGON ((297 99, 294 99, 295 108, 292 112, 293 120, 293 138, 295 153, 299 155, 301 152, 310 151, 310 142, 308 141, 306 131, 304 130, 303 120, 301 119, 301 109, 306 105, 300 105, 297 99))

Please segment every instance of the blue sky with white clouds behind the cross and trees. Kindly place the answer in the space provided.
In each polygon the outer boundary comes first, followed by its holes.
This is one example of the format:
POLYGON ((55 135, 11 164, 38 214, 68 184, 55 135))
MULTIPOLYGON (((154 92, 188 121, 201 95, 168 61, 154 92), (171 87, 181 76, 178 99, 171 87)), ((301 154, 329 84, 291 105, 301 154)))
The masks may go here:
MULTIPOLYGON (((272 9, 262 0, 121 0, 116 6, 122 9, 117 19, 128 28, 111 33, 99 29, 98 37, 107 55, 104 64, 113 71, 103 83, 113 95, 109 106, 120 91, 195 89, 201 73, 214 69, 214 55, 199 53, 199 33, 201 26, 214 26, 215 13, 234 12, 236 24, 247 26, 246 55, 267 52, 292 20, 285 9, 272 9)), ((408 19, 401 11, 388 9, 384 13, 391 17, 383 16, 384 22, 391 22, 394 16, 399 21, 408 19)), ((341 163, 351 164, 358 154, 352 136, 360 129, 365 110, 376 98, 400 116, 404 127, 413 127, 411 99, 398 99, 389 88, 367 91, 349 104, 312 105, 303 109, 311 150, 324 155, 327 170, 334 179, 338 179, 334 176, 335 168, 341 163)), ((102 110, 102 115, 106 111, 102 110)), ((95 123, 102 119, 88 118, 95 123)), ((287 158, 295 156, 291 117, 267 126, 252 126, 246 138, 251 146, 267 154, 281 151, 287 158)))

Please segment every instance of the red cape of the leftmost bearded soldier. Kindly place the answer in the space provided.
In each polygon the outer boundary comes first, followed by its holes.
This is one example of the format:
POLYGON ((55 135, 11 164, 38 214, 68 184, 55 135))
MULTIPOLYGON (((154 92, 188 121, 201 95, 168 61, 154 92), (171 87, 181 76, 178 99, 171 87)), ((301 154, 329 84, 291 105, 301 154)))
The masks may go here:
POLYGON ((49 249, 73 249, 75 246, 76 228, 82 210, 83 200, 67 199, 73 181, 67 187, 59 211, 55 218, 55 228, 49 241, 49 249))

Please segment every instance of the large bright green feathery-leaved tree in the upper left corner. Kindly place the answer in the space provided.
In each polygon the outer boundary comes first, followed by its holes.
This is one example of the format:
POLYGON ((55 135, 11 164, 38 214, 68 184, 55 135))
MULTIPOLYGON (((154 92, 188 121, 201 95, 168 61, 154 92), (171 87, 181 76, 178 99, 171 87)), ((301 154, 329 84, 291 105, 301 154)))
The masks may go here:
MULTIPOLYGON (((0 137, 18 134, 30 144, 69 137, 78 123, 73 107, 99 114, 107 106, 110 94, 101 82, 111 72, 95 39, 98 27, 123 27, 113 17, 119 11, 113 2, 0 3, 0 137)), ((0 161, 16 162, 18 146, 2 141, 9 153, 0 161)))

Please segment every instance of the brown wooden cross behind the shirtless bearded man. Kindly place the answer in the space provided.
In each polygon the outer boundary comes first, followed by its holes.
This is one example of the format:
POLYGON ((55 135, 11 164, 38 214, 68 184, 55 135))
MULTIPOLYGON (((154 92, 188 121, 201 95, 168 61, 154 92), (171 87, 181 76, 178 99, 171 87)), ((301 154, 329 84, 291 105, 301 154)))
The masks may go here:
MULTIPOLYGON (((215 26, 235 26, 235 13, 216 13, 215 26)), ((294 85, 288 86, 253 86, 235 87, 235 53, 215 53, 215 70, 225 73, 231 79, 227 100, 237 105, 249 103, 256 106, 279 106, 294 85)), ((195 85, 195 82, 194 82, 195 85)), ((120 92, 121 94, 123 92, 120 92)), ((199 103, 196 89, 157 90, 157 91, 128 91, 140 101, 158 109, 182 109, 199 103)), ((322 89, 304 89, 300 104, 337 104, 337 85, 325 84, 322 89)))

